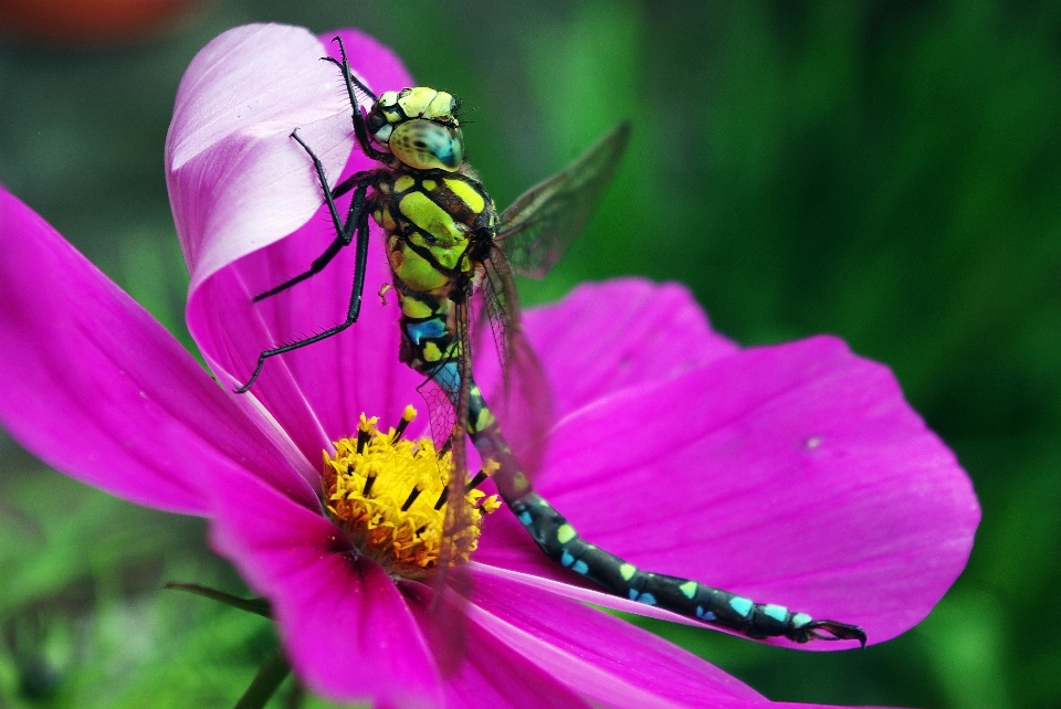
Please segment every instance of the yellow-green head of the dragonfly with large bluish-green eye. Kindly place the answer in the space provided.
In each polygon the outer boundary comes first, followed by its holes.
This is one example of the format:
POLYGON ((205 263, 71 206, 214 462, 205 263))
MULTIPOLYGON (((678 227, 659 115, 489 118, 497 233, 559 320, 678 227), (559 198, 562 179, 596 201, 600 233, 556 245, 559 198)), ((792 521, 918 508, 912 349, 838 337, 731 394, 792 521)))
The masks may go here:
POLYGON ((414 170, 455 172, 464 162, 464 137, 445 92, 417 86, 384 93, 365 117, 377 148, 414 170))

